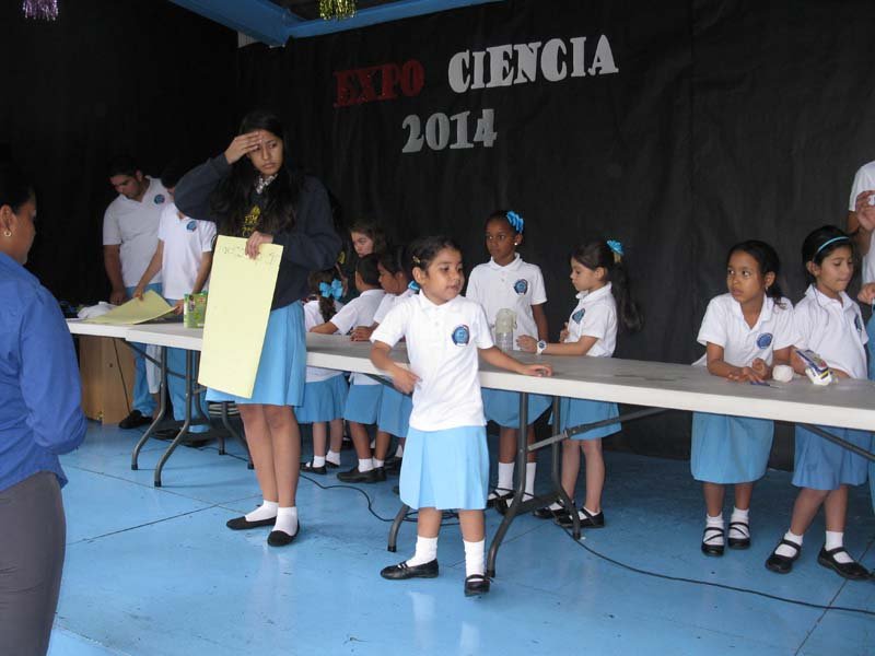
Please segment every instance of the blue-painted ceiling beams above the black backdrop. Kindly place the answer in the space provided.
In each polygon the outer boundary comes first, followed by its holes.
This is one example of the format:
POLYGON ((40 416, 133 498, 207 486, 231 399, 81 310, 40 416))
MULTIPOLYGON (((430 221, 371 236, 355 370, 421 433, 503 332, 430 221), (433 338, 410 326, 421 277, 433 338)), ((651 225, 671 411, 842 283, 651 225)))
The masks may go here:
POLYGON ((290 38, 307 38, 504 0, 357 0, 351 19, 324 21, 318 0, 171 0, 195 13, 269 46, 290 38))

